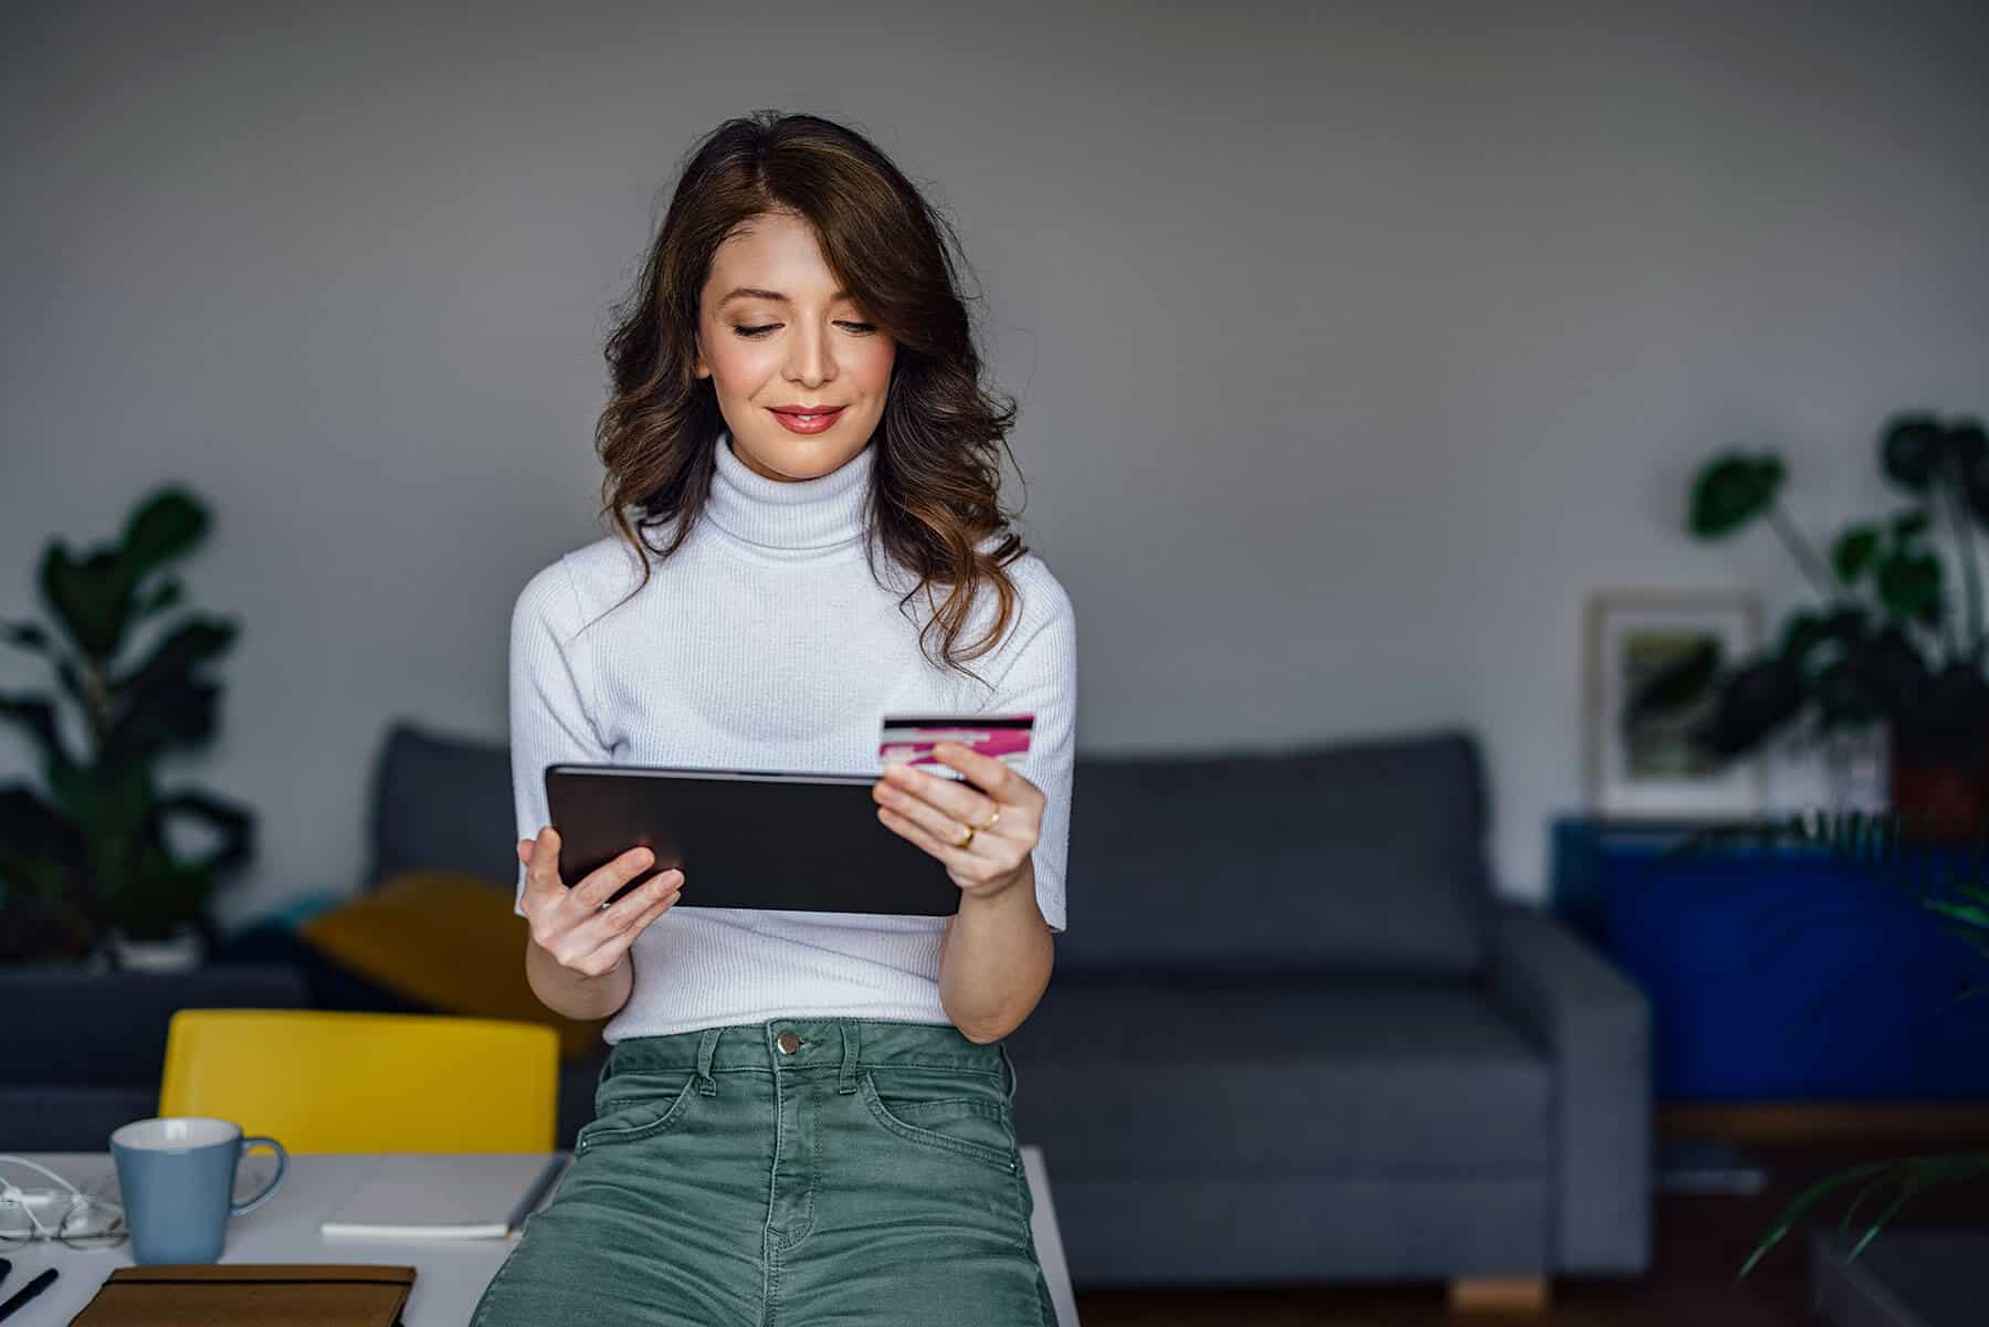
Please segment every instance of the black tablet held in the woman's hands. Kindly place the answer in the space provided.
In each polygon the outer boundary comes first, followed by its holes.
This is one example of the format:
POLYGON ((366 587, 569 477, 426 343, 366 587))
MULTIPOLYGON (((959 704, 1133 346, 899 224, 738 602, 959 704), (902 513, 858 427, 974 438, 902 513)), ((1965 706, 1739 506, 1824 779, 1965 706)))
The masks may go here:
POLYGON ((545 804, 567 887, 631 848, 684 871, 680 903, 810 913, 951 917, 961 887, 929 852, 877 820, 881 774, 551 764, 545 804))

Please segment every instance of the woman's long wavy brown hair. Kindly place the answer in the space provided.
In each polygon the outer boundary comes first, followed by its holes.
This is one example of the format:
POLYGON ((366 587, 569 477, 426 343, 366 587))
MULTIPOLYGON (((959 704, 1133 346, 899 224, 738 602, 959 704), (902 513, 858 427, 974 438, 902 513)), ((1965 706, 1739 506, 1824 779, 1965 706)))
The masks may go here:
MULTIPOLYGON (((865 318, 897 342, 865 503, 865 549, 877 575, 881 549, 917 575, 899 609, 935 587, 945 601, 919 629, 943 633, 941 666, 1000 641, 1016 613, 1004 571, 1028 545, 1002 511, 1000 452, 1014 424, 1012 398, 981 386, 981 356, 957 288, 959 237, 905 175, 863 135, 817 115, 754 111, 700 139, 648 251, 634 290, 615 310, 607 340, 611 398, 595 426, 607 466, 601 511, 642 563, 672 555, 704 511, 718 470, 724 416, 716 388, 696 376, 698 296, 712 257, 734 227, 762 213, 796 213, 815 231, 829 271, 865 318), (629 509, 640 513, 631 525, 629 509), (682 519, 676 519, 682 517, 682 519), (664 547, 640 531, 676 521, 664 547), (983 549, 993 535, 1004 535, 983 549), (973 649, 957 649, 975 597, 993 583, 1000 613, 973 649)), ((1012 454, 1010 454, 1012 460, 1012 454)), ((1016 468, 1020 475, 1020 466, 1016 468)), ((879 581, 881 583, 881 581, 879 581)), ((621 605, 615 605, 621 607, 621 605)))

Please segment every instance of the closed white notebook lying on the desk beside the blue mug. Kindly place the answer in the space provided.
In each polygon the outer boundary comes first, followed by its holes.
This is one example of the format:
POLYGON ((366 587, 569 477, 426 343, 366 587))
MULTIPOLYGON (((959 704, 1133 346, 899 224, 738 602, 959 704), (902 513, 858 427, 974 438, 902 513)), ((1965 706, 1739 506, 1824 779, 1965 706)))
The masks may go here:
POLYGON ((326 1239, 503 1239, 545 1202, 571 1154, 382 1156, 318 1230, 326 1239))

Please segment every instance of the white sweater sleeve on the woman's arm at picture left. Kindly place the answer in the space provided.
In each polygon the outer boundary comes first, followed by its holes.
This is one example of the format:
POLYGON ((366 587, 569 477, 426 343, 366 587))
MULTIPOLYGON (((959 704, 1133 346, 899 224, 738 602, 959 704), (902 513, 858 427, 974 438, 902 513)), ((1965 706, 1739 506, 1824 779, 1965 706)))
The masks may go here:
MULTIPOLYGON (((593 720, 593 666, 581 633, 581 601, 565 559, 533 575, 511 607, 511 800, 517 836, 549 824, 545 766, 609 764, 593 720)), ((525 863, 511 909, 523 915, 525 863)))

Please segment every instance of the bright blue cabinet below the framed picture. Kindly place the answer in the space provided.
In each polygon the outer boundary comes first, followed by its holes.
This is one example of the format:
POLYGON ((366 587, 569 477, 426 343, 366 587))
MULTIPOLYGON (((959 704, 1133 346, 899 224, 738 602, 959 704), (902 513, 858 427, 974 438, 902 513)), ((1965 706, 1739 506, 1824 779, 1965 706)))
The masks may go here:
MULTIPOLYGON (((1551 905, 1651 999, 1665 1102, 1989 1098, 1989 959, 1898 873, 1553 822, 1551 905)), ((1959 867, 1959 857, 1953 867, 1959 867)), ((1951 867, 1951 869, 1953 869, 1951 867)))

